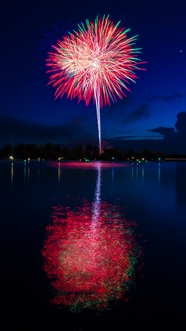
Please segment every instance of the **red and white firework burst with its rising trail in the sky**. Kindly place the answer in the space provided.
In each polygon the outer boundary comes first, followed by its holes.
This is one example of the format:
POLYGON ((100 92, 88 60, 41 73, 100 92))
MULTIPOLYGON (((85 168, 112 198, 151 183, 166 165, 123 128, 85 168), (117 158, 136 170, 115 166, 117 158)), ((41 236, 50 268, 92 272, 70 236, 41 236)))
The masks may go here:
POLYGON ((135 48, 137 36, 127 37, 130 29, 119 28, 109 16, 78 24, 77 31, 64 36, 53 45, 46 59, 49 84, 55 88, 55 98, 84 100, 86 106, 93 99, 96 104, 99 153, 101 154, 100 109, 110 101, 123 98, 128 84, 137 78, 135 70, 141 60, 140 48, 135 48))

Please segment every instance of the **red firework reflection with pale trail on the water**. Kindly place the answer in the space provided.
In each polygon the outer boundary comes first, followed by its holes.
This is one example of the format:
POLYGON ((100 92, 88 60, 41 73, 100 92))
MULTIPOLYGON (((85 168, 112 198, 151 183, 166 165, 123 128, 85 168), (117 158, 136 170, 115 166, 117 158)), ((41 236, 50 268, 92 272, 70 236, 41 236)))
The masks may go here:
POLYGON ((74 210, 54 207, 42 250, 44 270, 56 291, 51 302, 75 312, 105 310, 110 302, 127 300, 140 256, 135 224, 124 219, 119 207, 101 202, 97 169, 95 201, 84 200, 74 210))

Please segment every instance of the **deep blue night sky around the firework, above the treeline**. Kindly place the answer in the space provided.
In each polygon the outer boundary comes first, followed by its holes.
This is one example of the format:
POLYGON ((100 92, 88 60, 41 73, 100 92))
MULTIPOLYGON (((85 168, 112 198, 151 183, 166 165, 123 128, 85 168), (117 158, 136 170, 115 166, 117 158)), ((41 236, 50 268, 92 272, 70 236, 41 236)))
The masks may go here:
POLYGON ((0 6, 0 148, 12 141, 98 145, 95 104, 54 100, 47 86, 46 35, 55 35, 52 26, 60 30, 60 21, 72 26, 110 14, 131 28, 129 37, 139 35, 136 47, 148 63, 127 98, 102 108, 102 145, 186 153, 184 0, 7 0, 0 6))

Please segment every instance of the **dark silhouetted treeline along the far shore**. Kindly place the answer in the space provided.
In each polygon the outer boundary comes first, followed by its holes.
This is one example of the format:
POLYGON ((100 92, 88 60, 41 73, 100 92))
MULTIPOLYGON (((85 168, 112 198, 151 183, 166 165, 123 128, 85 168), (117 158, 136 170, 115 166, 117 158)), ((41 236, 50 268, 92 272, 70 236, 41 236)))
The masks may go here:
MULTIPOLYGON (((162 151, 152 152, 147 149, 143 149, 140 153, 134 152, 132 149, 127 152, 120 148, 103 148, 103 153, 99 155, 98 146, 92 146, 88 143, 85 148, 81 144, 76 145, 73 148, 68 146, 62 147, 59 144, 52 144, 50 142, 44 145, 37 144, 19 144, 12 147, 11 145, 5 145, 0 150, 0 159, 9 159, 12 156, 14 159, 27 160, 29 159, 45 159, 45 160, 57 160, 63 158, 66 160, 115 160, 115 161, 126 161, 126 160, 158 160, 159 158, 164 159, 165 157, 183 157, 178 154, 165 154, 162 151)), ((186 155, 184 155, 186 157, 186 155)))

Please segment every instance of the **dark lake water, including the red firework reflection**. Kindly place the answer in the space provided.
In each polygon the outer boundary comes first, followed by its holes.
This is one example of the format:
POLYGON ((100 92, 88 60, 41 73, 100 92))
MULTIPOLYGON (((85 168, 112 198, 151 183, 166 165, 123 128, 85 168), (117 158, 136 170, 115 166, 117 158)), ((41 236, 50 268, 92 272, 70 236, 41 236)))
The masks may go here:
POLYGON ((186 329, 186 163, 0 163, 2 330, 186 329))

